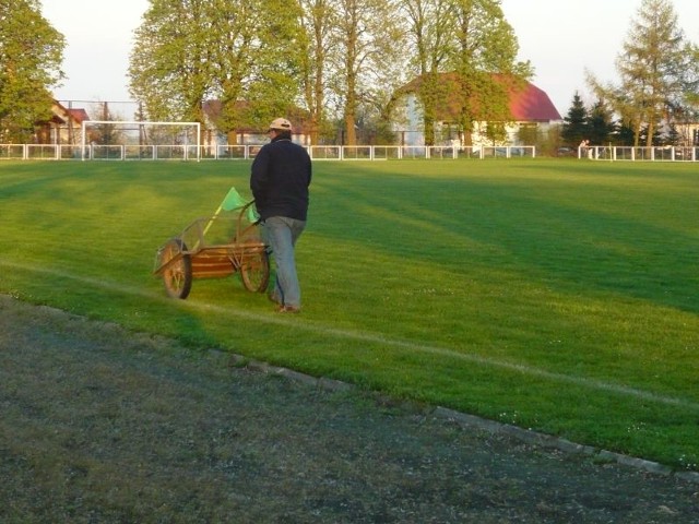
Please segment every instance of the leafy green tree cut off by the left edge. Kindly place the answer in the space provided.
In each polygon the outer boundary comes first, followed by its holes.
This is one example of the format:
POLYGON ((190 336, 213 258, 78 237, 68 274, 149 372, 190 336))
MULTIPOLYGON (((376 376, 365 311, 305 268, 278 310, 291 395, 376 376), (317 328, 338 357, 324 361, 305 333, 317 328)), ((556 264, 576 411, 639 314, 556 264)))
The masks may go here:
POLYGON ((28 141, 50 118, 64 47, 38 0, 0 0, 0 141, 28 141))

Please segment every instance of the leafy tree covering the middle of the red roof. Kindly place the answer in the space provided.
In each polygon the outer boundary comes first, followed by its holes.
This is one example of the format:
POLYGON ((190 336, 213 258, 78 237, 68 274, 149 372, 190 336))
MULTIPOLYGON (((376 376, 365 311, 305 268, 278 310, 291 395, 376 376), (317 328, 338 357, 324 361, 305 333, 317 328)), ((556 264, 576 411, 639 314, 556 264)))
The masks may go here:
POLYGON ((500 0, 452 1, 457 28, 451 60, 460 84, 460 124, 464 143, 471 145, 476 122, 511 119, 509 93, 532 70, 517 60, 519 44, 500 0))

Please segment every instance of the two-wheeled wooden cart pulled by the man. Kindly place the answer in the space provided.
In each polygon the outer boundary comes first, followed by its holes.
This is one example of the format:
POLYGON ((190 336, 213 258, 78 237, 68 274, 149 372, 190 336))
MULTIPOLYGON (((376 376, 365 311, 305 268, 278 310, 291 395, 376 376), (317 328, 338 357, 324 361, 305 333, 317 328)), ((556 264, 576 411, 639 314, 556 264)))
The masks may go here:
POLYGON ((187 298, 194 278, 225 277, 237 272, 249 291, 266 289, 269 253, 251 213, 252 203, 199 218, 157 250, 153 273, 163 277, 170 297, 187 298))

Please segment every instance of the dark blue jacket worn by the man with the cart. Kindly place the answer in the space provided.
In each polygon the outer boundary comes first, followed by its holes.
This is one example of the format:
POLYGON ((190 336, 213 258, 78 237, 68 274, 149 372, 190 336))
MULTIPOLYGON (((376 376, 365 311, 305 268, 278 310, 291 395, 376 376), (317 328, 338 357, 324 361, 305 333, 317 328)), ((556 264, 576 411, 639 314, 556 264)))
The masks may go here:
POLYGON ((310 156, 304 147, 279 136, 262 146, 250 174, 250 190, 260 218, 306 221, 310 179, 310 156))

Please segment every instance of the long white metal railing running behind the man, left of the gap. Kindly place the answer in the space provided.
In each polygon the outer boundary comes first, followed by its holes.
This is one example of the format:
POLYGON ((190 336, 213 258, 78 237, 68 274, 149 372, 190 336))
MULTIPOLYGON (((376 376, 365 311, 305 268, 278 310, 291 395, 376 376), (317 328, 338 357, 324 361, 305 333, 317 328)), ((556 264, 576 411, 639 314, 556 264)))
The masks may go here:
MULTIPOLYGON (((0 159, 12 160, 246 160, 262 145, 39 145, 0 144, 0 159)), ((402 158, 533 158, 534 146, 311 145, 313 160, 402 158)))

